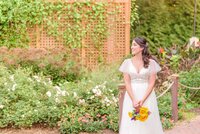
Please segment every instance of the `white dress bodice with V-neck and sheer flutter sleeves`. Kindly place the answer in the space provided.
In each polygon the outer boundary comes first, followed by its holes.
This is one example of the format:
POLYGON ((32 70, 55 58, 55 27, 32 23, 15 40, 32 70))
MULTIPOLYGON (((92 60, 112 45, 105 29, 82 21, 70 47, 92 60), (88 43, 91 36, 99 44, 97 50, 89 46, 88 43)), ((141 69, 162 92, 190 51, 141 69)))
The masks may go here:
POLYGON ((137 72, 131 59, 126 59, 119 70, 123 73, 128 73, 131 77, 131 82, 148 82, 150 75, 152 73, 157 73, 161 68, 156 61, 150 59, 149 66, 147 68, 142 67, 139 72, 137 72))

